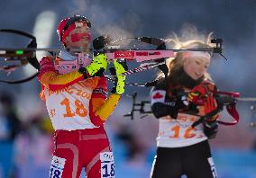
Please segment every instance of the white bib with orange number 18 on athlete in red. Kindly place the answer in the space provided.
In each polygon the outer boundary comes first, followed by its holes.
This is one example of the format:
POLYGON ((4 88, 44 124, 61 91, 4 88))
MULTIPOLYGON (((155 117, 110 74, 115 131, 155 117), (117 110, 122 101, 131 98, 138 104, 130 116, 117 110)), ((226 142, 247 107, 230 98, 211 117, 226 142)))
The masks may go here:
POLYGON ((89 118, 89 101, 93 87, 88 87, 87 80, 56 92, 45 88, 46 107, 54 129, 96 128, 89 118))

